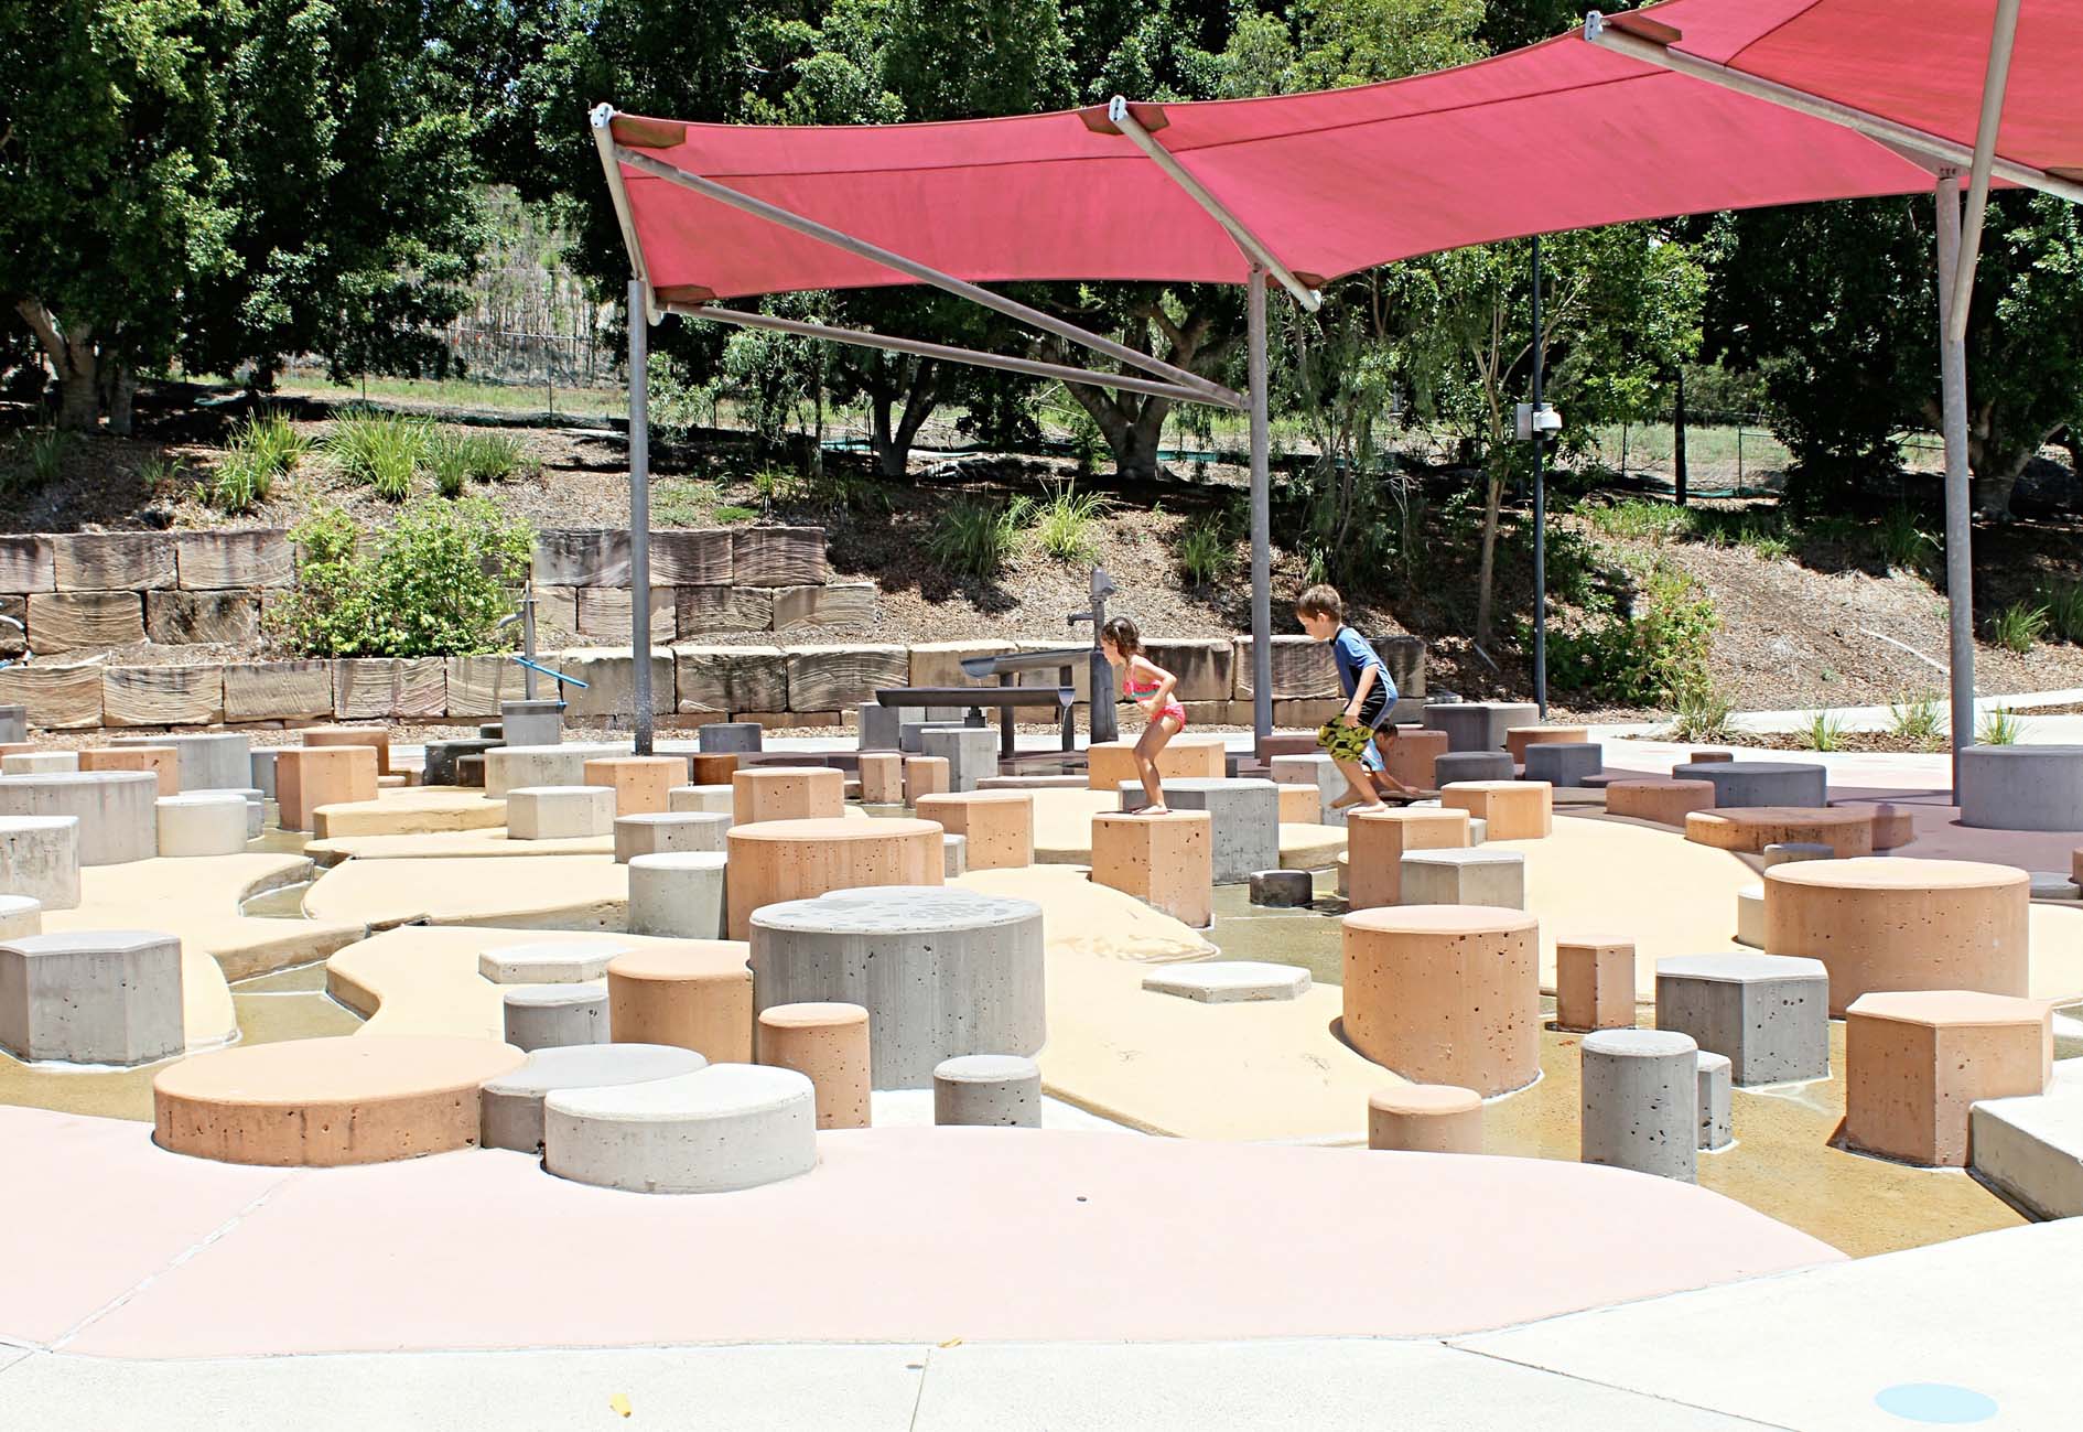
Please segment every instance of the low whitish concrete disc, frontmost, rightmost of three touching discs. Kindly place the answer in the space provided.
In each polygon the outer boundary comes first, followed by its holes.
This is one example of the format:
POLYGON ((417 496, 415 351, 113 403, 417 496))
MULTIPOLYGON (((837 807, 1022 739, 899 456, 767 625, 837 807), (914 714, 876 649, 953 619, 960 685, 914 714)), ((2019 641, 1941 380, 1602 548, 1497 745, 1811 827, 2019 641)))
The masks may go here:
POLYGON ((629 1192, 729 1192, 817 1167, 817 1096, 794 1069, 712 1063, 644 1084, 556 1090, 542 1165, 629 1192))

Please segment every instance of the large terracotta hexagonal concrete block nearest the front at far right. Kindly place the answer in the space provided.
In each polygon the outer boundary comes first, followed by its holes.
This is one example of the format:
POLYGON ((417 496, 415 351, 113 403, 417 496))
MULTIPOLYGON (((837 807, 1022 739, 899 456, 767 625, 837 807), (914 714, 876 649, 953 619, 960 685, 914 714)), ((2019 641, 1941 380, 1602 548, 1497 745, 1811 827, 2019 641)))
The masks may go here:
POLYGON ((1846 1011, 1843 1061, 1850 1146, 1966 1167, 1977 1101, 2046 1092, 2054 1013, 1977 990, 1862 994, 1846 1011))

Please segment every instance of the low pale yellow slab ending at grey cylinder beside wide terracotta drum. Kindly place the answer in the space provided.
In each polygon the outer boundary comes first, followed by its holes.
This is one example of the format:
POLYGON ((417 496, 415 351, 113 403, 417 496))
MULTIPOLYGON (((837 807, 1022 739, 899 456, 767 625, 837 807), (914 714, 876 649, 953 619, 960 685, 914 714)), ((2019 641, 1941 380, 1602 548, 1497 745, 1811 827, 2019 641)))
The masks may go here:
POLYGON ((621 930, 629 917, 629 867, 606 855, 348 861, 319 875, 304 894, 304 913, 373 928, 427 921, 621 930))

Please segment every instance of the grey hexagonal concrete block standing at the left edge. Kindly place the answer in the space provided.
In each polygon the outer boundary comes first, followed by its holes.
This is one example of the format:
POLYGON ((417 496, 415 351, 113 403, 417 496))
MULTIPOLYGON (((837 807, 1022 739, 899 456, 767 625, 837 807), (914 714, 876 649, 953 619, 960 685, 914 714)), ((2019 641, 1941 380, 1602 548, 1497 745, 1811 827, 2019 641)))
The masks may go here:
POLYGON ((17 1059, 140 1065, 185 1046, 177 936, 67 930, 0 944, 0 1048, 17 1059))

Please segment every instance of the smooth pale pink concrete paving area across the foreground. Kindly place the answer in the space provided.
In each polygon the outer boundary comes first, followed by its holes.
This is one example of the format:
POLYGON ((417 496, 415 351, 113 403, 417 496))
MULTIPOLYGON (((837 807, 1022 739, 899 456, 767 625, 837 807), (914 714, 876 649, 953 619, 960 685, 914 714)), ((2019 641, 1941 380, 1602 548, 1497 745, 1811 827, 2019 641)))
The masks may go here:
MULTIPOLYGON (((81 1124, 17 1111, 10 1163, 56 1165, 81 1124)), ((1841 1257, 1689 1184, 1539 1159, 889 1128, 821 1134, 804 1178, 673 1199, 500 1151, 283 1176, 104 1130, 0 1228, 0 1267, 102 1271, 77 1309, 142 1284, 67 1344, 100 1357, 1439 1336, 1841 1257), (198 1209, 196 1169, 252 1182, 198 1209)), ((81 1315, 48 1303, 46 1278, 0 1280, 0 1330, 81 1315)))

